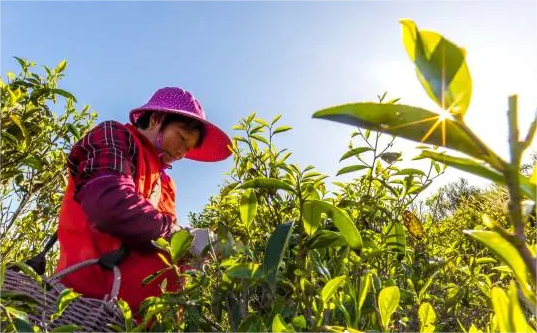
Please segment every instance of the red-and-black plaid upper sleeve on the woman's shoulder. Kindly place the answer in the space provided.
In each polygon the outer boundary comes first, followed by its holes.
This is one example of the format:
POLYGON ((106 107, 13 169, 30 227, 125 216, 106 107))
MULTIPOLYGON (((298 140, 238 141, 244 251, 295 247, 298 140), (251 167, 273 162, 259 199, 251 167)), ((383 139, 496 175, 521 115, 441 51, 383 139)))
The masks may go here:
POLYGON ((136 145, 123 124, 105 121, 77 142, 67 158, 75 182, 75 196, 93 176, 103 173, 133 176, 136 145))

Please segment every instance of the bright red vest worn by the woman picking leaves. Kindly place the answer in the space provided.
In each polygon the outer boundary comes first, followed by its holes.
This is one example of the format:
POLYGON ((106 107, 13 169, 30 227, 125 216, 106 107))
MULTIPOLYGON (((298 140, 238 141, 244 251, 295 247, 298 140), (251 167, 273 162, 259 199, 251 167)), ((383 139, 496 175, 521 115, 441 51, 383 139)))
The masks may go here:
MULTIPOLYGON (((137 151, 133 174, 135 188, 138 193, 149 198, 161 173, 160 159, 154 146, 140 132, 131 125, 126 125, 126 128, 133 134, 137 151)), ((161 213, 175 217, 175 185, 169 177, 161 178, 161 196, 156 208, 161 213)), ((60 259, 57 271, 88 259, 99 258, 121 246, 118 238, 99 232, 87 219, 81 205, 75 200, 75 181, 72 177, 69 178, 61 207, 58 239, 60 259)), ((157 253, 156 250, 131 250, 119 265, 122 274, 119 298, 129 303, 134 313, 138 312, 139 305, 145 298, 161 294, 160 283, 164 278, 167 279, 168 291, 182 287, 172 271, 146 286, 141 285, 144 278, 165 267, 157 253)), ((111 271, 94 265, 69 274, 62 282, 84 296, 103 298, 112 289, 112 277, 111 271)))

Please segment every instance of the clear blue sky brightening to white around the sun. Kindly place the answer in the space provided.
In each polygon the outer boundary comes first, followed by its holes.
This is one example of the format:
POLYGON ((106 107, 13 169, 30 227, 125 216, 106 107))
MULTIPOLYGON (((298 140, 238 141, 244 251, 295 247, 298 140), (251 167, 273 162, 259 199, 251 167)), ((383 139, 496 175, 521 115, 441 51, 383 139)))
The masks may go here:
MULTIPOLYGON (((400 18, 466 48, 474 80, 467 122, 506 156, 507 96, 520 94, 523 128, 537 108, 536 13, 532 0, 3 1, 0 72, 17 70, 12 56, 49 66, 67 59, 62 87, 100 121, 126 122, 162 86, 194 93, 230 135, 250 112, 282 113, 294 129, 277 145, 333 176, 353 128, 313 112, 383 91, 434 107, 405 54, 400 18)), ((231 159, 174 166, 183 223, 231 167, 231 159)), ((449 171, 438 185, 460 175, 449 171)))

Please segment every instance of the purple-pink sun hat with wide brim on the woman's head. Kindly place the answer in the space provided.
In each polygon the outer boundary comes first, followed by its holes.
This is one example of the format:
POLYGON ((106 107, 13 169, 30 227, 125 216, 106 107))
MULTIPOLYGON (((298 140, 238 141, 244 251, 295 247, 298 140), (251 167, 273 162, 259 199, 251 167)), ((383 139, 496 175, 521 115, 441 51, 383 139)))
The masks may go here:
POLYGON ((134 125, 146 111, 175 113, 199 120, 205 126, 205 136, 201 145, 191 149, 185 158, 202 161, 221 161, 231 155, 231 140, 216 125, 207 121, 203 107, 188 91, 178 87, 166 87, 157 90, 146 104, 131 110, 129 118, 134 125))

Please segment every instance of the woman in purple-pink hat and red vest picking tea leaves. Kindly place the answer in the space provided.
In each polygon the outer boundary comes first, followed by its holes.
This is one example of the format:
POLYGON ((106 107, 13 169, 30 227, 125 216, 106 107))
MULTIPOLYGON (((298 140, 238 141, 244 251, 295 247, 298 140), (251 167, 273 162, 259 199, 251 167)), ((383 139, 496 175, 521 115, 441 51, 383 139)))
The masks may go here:
MULTIPOLYGON (((73 146, 58 239, 57 270, 127 249, 119 268, 119 298, 133 312, 149 296, 181 288, 174 273, 148 285, 141 281, 165 267, 151 240, 178 230, 175 185, 166 175, 182 158, 220 161, 231 153, 229 137, 206 120, 200 103, 181 88, 158 90, 130 112, 131 124, 105 121, 73 146)), ((98 265, 67 275, 62 282, 87 297, 110 293, 113 274, 98 265)))

